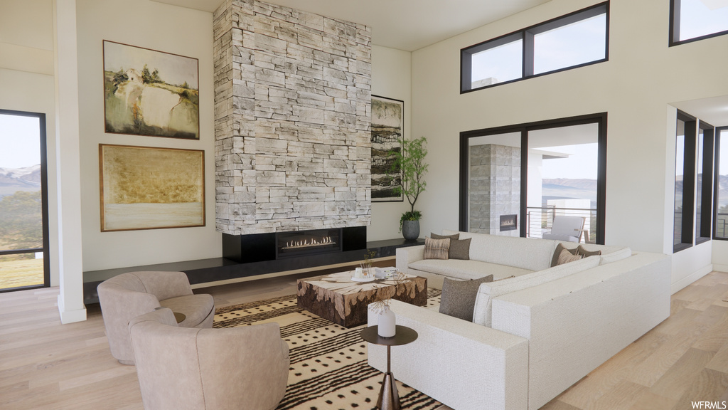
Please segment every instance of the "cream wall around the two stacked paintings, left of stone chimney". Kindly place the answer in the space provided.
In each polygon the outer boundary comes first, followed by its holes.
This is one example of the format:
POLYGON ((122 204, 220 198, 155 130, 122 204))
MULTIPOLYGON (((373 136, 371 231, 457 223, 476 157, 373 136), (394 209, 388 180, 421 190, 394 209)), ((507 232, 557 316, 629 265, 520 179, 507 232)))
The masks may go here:
POLYGON ((220 257, 221 234, 215 231, 212 14, 149 0, 78 0, 77 9, 84 271, 220 257), (199 59, 199 141, 104 132, 104 39, 199 59), (205 150, 205 227, 101 232, 98 144, 205 150))

